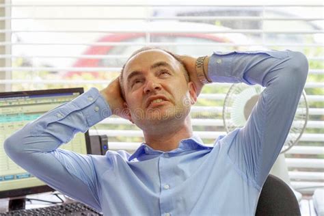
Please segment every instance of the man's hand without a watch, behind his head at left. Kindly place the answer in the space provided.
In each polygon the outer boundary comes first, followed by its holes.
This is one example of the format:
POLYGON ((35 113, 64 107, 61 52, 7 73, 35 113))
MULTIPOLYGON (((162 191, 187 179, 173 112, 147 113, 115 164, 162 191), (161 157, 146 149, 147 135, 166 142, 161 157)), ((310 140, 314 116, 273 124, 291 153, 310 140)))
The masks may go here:
POLYGON ((107 103, 109 103, 113 115, 130 120, 129 115, 127 115, 126 107, 124 106, 125 100, 122 98, 119 79, 120 77, 118 76, 116 79, 111 81, 107 87, 100 90, 100 94, 102 94, 107 100, 107 103))

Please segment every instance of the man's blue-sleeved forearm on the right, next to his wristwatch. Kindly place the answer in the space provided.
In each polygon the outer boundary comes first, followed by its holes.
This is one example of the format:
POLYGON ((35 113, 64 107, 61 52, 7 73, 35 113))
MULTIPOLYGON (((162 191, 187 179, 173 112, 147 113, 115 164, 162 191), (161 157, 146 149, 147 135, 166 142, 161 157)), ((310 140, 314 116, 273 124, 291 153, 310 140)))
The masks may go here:
MULTIPOLYGON (((293 51, 232 51, 230 53, 215 52, 204 62, 208 64, 208 77, 219 83, 246 83, 267 86, 265 78, 270 73, 300 70, 308 65, 304 55, 295 55, 293 51), (291 56, 289 55, 291 53, 291 56), (292 58, 293 57, 293 58, 292 58), (284 66, 276 67, 283 62, 284 66)), ((306 77, 305 70, 295 74, 306 77), (302 74, 304 73, 304 74, 302 74)), ((307 75, 307 71, 306 71, 307 75)), ((281 76, 281 75, 280 75, 281 76)))

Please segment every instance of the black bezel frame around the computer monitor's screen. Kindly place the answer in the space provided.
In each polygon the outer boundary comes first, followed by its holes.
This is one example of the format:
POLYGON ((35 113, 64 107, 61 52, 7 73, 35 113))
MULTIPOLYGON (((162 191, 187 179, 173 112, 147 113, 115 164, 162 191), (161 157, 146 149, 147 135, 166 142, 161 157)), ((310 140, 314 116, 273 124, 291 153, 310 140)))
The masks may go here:
MULTIPOLYGON (((51 89, 51 90, 31 90, 31 91, 18 91, 18 92, 0 92, 0 98, 10 98, 14 96, 33 96, 40 94, 54 94, 54 93, 80 93, 83 94, 83 87, 74 88, 61 88, 61 89, 51 89)), ((87 154, 90 154, 90 136, 89 131, 85 132, 85 146, 87 149, 87 154)), ((31 195, 36 193, 45 193, 55 191, 52 187, 48 185, 40 185, 35 187, 24 187, 20 189, 10 189, 7 191, 0 191, 0 199, 3 198, 19 198, 25 195, 31 195)))

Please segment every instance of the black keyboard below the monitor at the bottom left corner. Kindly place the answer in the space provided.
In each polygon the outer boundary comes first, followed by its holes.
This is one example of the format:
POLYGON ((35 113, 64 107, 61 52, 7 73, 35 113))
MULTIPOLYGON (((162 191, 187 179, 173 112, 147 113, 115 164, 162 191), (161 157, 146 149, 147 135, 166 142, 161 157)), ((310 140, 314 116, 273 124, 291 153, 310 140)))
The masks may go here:
POLYGON ((55 206, 43 207, 43 208, 31 208, 31 209, 21 209, 15 211, 8 211, 7 213, 0 213, 0 215, 102 215, 95 211, 93 208, 86 206, 81 202, 72 202, 68 204, 59 204, 55 206))

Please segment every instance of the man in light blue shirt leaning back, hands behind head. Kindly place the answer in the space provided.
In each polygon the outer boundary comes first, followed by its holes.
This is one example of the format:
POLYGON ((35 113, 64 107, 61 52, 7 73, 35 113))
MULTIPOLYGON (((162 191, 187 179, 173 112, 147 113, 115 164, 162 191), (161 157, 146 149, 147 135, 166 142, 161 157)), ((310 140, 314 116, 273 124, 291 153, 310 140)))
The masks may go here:
POLYGON ((5 150, 31 174, 105 215, 254 215, 307 73, 306 57, 293 51, 195 59, 142 49, 105 89, 92 88, 30 122, 5 140, 5 150), (214 147, 193 134, 189 117, 211 81, 266 87, 247 124, 218 137, 214 147), (145 143, 134 154, 57 149, 112 113, 143 131, 145 143))

